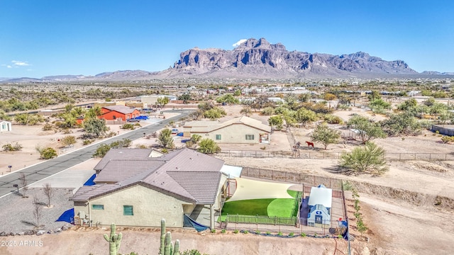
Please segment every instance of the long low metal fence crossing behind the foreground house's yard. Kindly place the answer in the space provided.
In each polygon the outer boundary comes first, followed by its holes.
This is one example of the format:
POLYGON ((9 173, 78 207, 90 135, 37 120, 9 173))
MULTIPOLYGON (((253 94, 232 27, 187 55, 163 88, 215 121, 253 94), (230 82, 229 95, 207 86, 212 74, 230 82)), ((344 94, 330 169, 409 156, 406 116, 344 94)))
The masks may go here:
MULTIPOLYGON (((342 152, 285 152, 285 151, 244 151, 224 150, 216 154, 220 157, 289 158, 289 159, 340 159, 342 152)), ((387 160, 454 160, 454 153, 386 153, 387 160)))

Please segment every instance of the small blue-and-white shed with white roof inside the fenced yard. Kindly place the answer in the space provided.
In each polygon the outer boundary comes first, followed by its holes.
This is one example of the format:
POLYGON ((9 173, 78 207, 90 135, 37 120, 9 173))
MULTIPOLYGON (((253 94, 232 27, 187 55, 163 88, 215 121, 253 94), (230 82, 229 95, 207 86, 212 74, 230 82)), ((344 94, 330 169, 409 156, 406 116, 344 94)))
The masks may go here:
POLYGON ((309 194, 309 214, 307 225, 329 225, 331 222, 331 206, 333 203, 333 190, 326 188, 323 184, 312 187, 309 194))

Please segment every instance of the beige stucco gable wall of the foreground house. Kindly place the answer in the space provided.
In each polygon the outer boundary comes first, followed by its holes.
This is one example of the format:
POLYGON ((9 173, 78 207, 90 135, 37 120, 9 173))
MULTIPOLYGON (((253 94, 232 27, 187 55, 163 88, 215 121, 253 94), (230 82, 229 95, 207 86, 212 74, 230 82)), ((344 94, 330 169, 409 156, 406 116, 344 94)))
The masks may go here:
POLYGON ((183 206, 190 204, 172 196, 167 196, 151 188, 135 185, 121 191, 94 198, 85 206, 74 203, 74 215, 84 211, 89 220, 119 226, 160 227, 165 218, 168 227, 183 227, 183 206), (104 205, 104 210, 93 210, 92 205, 104 205), (123 205, 133 205, 134 215, 123 215, 123 205))

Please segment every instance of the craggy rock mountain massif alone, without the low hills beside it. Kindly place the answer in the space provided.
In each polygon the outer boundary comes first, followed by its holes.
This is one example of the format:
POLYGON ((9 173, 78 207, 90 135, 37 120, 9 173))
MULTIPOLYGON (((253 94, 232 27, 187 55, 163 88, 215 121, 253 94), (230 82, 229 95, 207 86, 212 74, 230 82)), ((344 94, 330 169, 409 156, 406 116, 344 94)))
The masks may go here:
POLYGON ((168 76, 202 77, 355 77, 382 74, 418 74, 402 60, 385 61, 365 52, 329 55, 288 51, 265 38, 246 40, 233 50, 197 47, 182 52, 168 76))

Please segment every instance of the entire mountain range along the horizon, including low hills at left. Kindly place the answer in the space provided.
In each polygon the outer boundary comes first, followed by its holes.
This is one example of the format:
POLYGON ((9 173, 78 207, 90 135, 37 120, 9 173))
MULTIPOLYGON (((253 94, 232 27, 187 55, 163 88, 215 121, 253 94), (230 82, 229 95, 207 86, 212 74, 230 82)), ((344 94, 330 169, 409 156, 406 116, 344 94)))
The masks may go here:
MULTIPOLYGON (((365 52, 329 55, 288 51, 281 43, 271 44, 265 38, 250 38, 233 50, 194 47, 179 55, 173 67, 161 72, 125 70, 104 72, 96 76, 59 75, 38 79, 51 81, 138 81, 148 79, 300 79, 300 78, 376 78, 431 77, 453 73, 423 72, 411 69, 402 60, 386 61, 365 52)), ((33 78, 6 81, 30 82, 33 78)), ((5 81, 3 81, 5 82, 5 81)))

